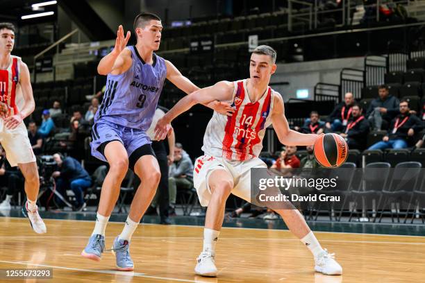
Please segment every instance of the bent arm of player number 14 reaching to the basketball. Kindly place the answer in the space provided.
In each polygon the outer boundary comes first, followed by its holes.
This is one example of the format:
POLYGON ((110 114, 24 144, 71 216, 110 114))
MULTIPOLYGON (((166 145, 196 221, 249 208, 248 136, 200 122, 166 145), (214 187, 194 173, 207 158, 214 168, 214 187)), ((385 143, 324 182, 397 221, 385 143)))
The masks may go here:
POLYGON ((288 120, 285 117, 282 96, 277 93, 274 95, 272 123, 279 141, 286 146, 311 146, 315 144, 317 137, 319 137, 319 135, 301 134, 301 132, 290 129, 288 120))

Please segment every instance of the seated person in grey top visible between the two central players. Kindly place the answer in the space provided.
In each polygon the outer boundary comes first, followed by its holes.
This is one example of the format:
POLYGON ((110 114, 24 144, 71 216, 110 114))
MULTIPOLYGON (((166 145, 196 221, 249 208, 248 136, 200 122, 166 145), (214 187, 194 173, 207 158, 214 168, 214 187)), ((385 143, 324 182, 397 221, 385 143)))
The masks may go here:
POLYGON ((174 147, 174 162, 169 166, 168 176, 169 203, 174 208, 177 188, 187 190, 193 187, 193 163, 178 142, 174 147))

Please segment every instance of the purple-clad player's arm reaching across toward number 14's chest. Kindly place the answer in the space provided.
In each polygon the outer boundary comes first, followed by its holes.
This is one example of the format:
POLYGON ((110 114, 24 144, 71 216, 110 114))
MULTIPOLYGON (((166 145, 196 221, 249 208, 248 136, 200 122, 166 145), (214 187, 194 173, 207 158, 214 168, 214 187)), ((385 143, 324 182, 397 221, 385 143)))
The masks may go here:
MULTIPOLYGON (((176 87, 181 89, 186 94, 191 94, 196 92, 199 87, 194 85, 188 78, 183 76, 180 71, 168 60, 165 60, 165 65, 167 66, 167 79, 173 83, 176 87)), ((210 101, 209 103, 201 103, 202 105, 211 108, 220 114, 229 115, 233 114, 234 110, 230 107, 228 103, 221 101, 210 101)))

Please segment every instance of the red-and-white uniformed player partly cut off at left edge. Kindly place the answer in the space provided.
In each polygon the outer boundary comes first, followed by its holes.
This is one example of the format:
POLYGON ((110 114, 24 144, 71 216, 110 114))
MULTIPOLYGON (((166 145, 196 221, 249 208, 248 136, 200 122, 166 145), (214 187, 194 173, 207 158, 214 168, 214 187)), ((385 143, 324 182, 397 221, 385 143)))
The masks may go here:
POLYGON ((22 213, 28 217, 33 230, 43 234, 47 229, 37 207, 40 179, 24 124, 24 119, 35 108, 31 78, 22 59, 10 54, 15 45, 15 26, 0 23, 0 34, 0 142, 10 165, 19 166, 25 178, 27 200, 22 213), (19 99, 23 102, 18 107, 19 99))

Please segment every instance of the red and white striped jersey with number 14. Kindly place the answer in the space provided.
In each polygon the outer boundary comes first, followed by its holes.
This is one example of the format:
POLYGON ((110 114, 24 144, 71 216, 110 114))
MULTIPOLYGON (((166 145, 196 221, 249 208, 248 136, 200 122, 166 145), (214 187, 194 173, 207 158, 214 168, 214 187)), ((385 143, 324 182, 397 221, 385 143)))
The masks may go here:
POLYGON ((272 124, 273 89, 267 87, 260 100, 251 103, 247 80, 234 82, 231 117, 214 112, 205 135, 202 150, 206 155, 226 160, 250 160, 263 148, 265 130, 272 124))

